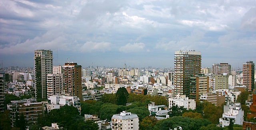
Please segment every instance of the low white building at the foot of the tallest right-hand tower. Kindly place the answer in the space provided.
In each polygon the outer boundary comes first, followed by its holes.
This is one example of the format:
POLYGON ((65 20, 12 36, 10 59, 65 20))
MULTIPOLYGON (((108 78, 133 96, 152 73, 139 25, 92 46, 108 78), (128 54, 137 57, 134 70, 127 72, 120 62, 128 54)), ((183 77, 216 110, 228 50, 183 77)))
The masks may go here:
POLYGON ((186 109, 196 109, 196 101, 194 99, 188 99, 186 95, 176 95, 176 97, 169 98, 169 109, 172 106, 178 105, 183 106, 186 109))

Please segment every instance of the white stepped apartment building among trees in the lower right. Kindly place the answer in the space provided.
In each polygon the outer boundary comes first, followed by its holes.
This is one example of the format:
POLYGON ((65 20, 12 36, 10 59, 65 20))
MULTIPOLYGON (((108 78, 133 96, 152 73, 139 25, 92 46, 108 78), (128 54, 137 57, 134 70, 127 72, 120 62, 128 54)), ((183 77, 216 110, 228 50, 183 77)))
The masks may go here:
POLYGON ((228 126, 230 118, 233 119, 234 124, 242 125, 244 121, 243 116, 244 111, 242 111, 240 103, 224 105, 224 113, 222 114, 222 118, 220 118, 220 125, 222 127, 228 126))

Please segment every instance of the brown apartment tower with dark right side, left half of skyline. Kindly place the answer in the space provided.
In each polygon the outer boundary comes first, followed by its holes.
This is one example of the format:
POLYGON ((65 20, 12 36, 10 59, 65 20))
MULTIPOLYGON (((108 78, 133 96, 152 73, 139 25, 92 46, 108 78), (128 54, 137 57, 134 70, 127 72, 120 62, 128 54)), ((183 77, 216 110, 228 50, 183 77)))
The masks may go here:
POLYGON ((62 66, 63 91, 66 96, 78 96, 82 99, 82 73, 81 65, 68 62, 62 66))

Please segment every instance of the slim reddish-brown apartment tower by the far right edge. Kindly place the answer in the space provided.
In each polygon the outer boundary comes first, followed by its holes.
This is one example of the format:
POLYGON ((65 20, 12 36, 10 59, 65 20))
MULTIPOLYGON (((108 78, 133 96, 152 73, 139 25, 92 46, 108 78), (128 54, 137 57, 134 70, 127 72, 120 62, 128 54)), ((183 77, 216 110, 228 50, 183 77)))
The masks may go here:
POLYGON ((248 91, 254 89, 254 63, 252 61, 246 61, 243 64, 243 85, 247 87, 248 91))

